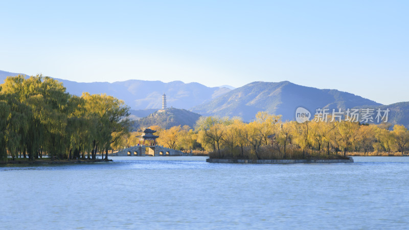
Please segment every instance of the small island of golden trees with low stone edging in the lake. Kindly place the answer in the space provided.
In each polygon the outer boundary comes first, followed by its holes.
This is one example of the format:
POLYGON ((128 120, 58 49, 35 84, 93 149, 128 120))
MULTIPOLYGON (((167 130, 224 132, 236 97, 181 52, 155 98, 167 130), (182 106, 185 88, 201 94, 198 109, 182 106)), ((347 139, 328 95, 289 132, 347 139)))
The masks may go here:
MULTIPOLYGON (((338 142, 333 142, 331 134, 338 134, 331 132, 335 126, 331 128, 330 124, 325 127, 319 123, 282 123, 280 120, 281 116, 266 112, 259 112, 256 120, 247 124, 228 118, 202 119, 197 125, 199 140, 208 144, 208 147, 213 147, 206 161, 244 164, 354 162, 352 157, 347 156, 351 141, 342 142, 339 139, 338 142), (317 135, 318 129, 321 131, 320 135, 317 135)), ((350 124, 339 125, 352 127, 350 124)), ((346 132, 342 134, 347 135, 346 132)))

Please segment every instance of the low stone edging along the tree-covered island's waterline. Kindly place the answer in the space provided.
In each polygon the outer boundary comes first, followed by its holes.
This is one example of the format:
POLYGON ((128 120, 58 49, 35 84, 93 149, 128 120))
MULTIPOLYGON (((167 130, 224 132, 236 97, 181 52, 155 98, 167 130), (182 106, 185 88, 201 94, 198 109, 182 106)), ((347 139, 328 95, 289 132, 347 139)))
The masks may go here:
POLYGON ((228 163, 228 164, 305 164, 305 163, 353 163, 354 159, 220 159, 208 158, 208 163, 228 163))

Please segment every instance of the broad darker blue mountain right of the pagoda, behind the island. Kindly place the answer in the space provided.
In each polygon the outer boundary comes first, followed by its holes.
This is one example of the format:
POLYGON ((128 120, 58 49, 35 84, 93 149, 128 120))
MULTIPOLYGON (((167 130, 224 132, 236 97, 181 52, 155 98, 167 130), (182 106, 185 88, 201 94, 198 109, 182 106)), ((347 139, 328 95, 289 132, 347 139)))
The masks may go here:
POLYGON ((258 111, 281 114, 283 120, 293 120, 298 107, 314 113, 317 108, 353 108, 381 105, 336 89, 318 89, 282 82, 252 82, 193 107, 191 110, 205 116, 240 116, 251 121, 258 111))

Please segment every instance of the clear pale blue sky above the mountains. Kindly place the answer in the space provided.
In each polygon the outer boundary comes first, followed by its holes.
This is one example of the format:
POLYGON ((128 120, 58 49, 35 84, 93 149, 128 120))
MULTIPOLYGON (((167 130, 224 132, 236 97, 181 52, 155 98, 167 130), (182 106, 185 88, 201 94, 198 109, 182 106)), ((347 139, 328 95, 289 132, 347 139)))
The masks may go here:
POLYGON ((409 101, 409 1, 2 1, 0 70, 409 101), (5 3, 6 2, 6 3, 5 3))

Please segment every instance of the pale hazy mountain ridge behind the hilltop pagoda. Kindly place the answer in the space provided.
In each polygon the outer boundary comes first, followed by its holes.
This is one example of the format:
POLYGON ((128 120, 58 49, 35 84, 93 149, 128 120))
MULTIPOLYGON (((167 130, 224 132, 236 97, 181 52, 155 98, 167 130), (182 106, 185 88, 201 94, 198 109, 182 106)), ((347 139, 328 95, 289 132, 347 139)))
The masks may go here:
MULTIPOLYGON (((16 73, 0 71, 0 81, 3 83, 7 76, 16 73)), ((81 96, 83 92, 90 94, 108 94, 124 100, 132 109, 162 108, 162 95, 167 96, 168 107, 189 109, 206 103, 231 89, 226 87, 208 87, 196 82, 184 83, 172 81, 127 80, 116 82, 75 82, 54 78, 61 81, 70 94, 81 96)))

